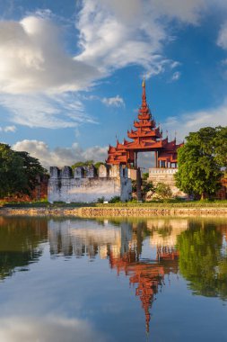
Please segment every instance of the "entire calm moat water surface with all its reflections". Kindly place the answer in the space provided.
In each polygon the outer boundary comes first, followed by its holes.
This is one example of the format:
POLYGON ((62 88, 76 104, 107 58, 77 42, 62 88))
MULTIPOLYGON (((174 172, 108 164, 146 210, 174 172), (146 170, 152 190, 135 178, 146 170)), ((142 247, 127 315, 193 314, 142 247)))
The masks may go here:
POLYGON ((227 341, 227 219, 0 217, 0 341, 227 341))

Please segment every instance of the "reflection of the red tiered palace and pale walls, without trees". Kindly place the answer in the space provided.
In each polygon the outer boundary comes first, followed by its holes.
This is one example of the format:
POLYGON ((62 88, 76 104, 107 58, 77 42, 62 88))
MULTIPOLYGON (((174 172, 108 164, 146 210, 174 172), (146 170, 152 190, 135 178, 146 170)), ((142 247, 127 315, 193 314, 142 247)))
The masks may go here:
POLYGON ((129 277, 144 309, 146 331, 149 331, 151 308, 155 295, 164 284, 164 275, 178 272, 177 236, 188 229, 188 220, 50 220, 48 237, 50 253, 64 256, 108 258, 117 274, 129 277), (143 241, 149 238, 156 257, 141 258, 143 241))

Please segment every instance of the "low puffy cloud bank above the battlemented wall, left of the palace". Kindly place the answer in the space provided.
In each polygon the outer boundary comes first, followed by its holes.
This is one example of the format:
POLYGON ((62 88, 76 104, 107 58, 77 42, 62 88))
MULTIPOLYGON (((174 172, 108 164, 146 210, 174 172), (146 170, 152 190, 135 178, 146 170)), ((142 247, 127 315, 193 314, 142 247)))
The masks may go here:
POLYGON ((81 148, 74 143, 70 148, 50 149, 44 141, 24 139, 18 141, 12 147, 17 151, 27 151, 32 157, 37 157, 40 163, 49 166, 71 166, 77 161, 94 160, 105 161, 107 158, 107 147, 94 146, 92 148, 81 148))

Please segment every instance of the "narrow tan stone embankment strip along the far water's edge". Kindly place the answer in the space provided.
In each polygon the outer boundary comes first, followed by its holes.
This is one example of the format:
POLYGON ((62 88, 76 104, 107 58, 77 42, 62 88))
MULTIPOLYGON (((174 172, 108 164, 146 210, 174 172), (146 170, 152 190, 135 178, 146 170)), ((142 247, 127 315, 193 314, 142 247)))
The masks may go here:
POLYGON ((74 216, 95 217, 151 217, 151 216, 223 216, 227 217, 226 207, 193 208, 149 208, 149 207, 79 207, 79 208, 0 208, 1 216, 74 216))

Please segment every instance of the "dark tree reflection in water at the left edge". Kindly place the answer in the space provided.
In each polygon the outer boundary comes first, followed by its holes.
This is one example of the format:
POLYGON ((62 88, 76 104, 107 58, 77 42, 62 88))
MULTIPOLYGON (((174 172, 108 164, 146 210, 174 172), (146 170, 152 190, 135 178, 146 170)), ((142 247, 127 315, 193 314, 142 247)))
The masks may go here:
POLYGON ((15 267, 28 266, 41 255, 39 243, 47 238, 47 220, 0 218, 0 279, 15 267))

